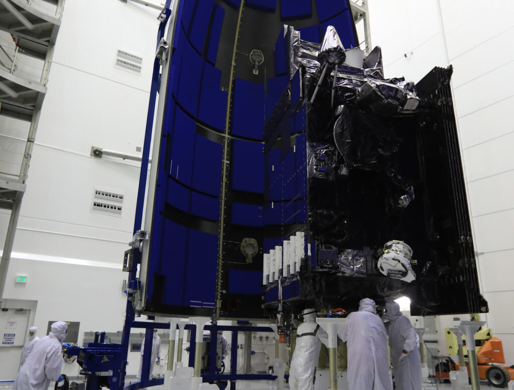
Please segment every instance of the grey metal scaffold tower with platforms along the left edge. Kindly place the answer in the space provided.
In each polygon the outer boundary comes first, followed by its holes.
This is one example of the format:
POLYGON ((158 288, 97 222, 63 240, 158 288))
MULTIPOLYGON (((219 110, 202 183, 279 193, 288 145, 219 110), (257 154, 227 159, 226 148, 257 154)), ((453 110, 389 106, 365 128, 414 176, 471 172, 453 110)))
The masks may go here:
MULTIPOLYGON (((0 32, 9 40, 0 41, 0 115, 29 121, 19 175, 0 173, 0 208, 10 210, 2 261, 0 262, 0 299, 3 298, 16 225, 25 192, 25 181, 38 129, 41 107, 47 91, 48 73, 53 57, 64 0, 0 0, 0 32), (25 71, 28 61, 39 60, 39 70, 25 71), (34 75, 35 73, 35 75, 34 75)), ((30 67, 30 66, 29 66, 30 67)))

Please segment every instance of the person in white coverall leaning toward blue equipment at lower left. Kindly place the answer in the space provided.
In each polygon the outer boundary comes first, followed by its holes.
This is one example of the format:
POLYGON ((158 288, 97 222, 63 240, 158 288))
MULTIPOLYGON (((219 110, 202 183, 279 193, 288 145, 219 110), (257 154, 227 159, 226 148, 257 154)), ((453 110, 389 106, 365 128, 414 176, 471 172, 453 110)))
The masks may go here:
POLYGON ((54 322, 48 336, 43 337, 34 345, 25 364, 14 381, 12 390, 48 390, 50 381, 60 382, 61 343, 66 339, 68 325, 65 322, 54 322))

